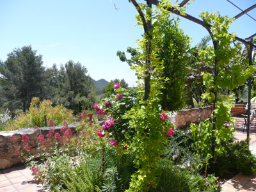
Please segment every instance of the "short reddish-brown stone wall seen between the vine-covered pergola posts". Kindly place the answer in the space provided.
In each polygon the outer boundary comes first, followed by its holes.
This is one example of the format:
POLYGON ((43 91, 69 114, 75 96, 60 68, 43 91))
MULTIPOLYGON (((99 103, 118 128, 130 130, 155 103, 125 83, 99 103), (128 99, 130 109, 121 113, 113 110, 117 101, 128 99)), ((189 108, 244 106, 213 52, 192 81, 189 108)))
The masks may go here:
POLYGON ((211 113, 211 106, 183 109, 175 115, 175 127, 186 127, 191 123, 199 124, 199 115, 202 121, 204 121, 206 118, 211 118, 211 113))

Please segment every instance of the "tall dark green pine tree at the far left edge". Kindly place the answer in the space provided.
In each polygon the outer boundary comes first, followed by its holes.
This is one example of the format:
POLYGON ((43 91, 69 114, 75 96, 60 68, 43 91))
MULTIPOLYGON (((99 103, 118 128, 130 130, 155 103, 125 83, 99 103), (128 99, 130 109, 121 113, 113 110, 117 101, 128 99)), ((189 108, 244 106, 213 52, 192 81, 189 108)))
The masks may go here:
POLYGON ((44 95, 44 72, 42 55, 36 55, 31 45, 13 49, 6 61, 0 63, 0 86, 2 97, 8 100, 10 109, 29 109, 33 97, 44 95))

